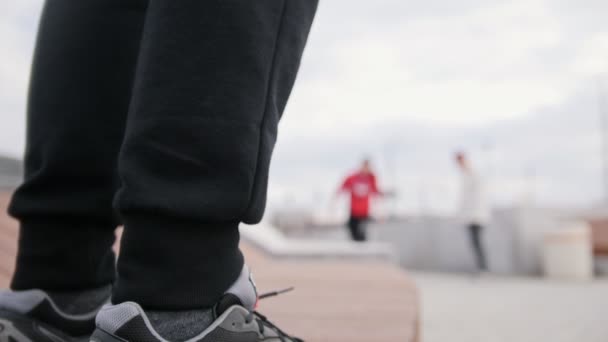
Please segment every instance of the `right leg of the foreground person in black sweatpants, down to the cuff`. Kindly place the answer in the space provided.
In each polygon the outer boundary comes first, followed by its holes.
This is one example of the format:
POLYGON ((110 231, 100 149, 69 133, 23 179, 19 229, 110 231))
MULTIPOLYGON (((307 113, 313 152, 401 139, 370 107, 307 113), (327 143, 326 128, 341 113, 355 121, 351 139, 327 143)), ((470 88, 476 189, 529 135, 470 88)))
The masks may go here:
POLYGON ((316 0, 151 0, 119 158, 113 302, 209 308, 261 219, 277 124, 316 0))

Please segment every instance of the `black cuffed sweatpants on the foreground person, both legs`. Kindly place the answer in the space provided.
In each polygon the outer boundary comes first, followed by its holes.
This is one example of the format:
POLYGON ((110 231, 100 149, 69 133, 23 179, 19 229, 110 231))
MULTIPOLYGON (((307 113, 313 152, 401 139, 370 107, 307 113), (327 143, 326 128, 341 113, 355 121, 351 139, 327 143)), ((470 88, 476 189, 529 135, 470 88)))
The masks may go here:
POLYGON ((317 0, 47 0, 14 289, 209 307, 237 278, 317 0))

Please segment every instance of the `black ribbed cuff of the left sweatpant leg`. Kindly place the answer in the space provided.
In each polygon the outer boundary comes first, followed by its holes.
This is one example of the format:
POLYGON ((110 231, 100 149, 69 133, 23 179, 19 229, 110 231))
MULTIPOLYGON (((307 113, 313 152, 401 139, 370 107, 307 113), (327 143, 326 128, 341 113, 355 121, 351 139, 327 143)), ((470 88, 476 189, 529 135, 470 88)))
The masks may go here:
POLYGON ((110 223, 22 221, 11 288, 80 291, 113 283, 114 228, 110 223))

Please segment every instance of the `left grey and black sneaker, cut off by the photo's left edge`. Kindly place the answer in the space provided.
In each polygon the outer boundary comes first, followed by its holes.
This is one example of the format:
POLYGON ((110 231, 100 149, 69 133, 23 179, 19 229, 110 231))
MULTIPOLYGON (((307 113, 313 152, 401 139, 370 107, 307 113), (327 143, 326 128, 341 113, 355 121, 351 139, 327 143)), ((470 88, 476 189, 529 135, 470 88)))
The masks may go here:
POLYGON ((109 287, 99 289, 98 298, 100 291, 104 298, 88 301, 85 310, 65 300, 66 296, 53 299, 42 290, 0 291, 0 342, 89 341, 95 316, 110 297, 109 287), (60 305, 62 301, 65 306, 60 305))

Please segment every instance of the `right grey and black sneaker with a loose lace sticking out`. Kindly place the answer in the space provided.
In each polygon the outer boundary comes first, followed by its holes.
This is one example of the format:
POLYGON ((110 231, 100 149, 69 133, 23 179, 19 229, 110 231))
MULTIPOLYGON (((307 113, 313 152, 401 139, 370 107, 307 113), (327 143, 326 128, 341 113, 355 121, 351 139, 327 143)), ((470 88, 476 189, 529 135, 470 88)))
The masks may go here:
MULTIPOLYGON (((90 342, 303 342, 291 337, 266 317, 254 311, 258 299, 278 295, 291 289, 257 296, 247 267, 235 285, 212 310, 212 323, 182 327, 191 335, 171 338, 163 334, 158 322, 150 319, 137 303, 107 305, 97 316, 97 329, 90 342)), ((196 325, 196 323, 195 323, 196 325)))

